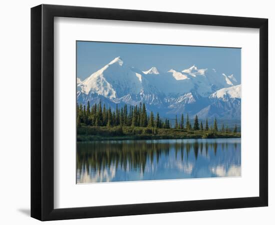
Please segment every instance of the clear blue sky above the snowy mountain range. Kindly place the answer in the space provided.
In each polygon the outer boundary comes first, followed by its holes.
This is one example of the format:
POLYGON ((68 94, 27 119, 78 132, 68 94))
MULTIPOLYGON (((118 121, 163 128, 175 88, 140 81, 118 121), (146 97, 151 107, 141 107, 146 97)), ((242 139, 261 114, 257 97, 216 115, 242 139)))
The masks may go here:
POLYGON ((181 71, 195 64, 198 68, 215 68, 240 81, 240 48, 132 44, 112 42, 76 42, 76 75, 81 80, 120 56, 124 63, 148 70, 171 68, 181 71))

